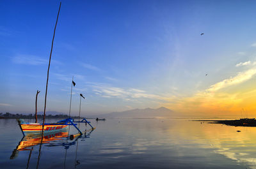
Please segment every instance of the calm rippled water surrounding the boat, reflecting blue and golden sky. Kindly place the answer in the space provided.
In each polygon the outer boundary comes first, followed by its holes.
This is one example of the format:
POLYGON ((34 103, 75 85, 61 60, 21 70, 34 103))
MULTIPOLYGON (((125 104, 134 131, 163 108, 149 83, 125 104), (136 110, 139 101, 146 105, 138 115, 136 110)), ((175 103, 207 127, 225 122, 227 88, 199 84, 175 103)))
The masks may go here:
POLYGON ((172 119, 92 125, 96 129, 77 140, 49 136, 38 161, 40 145, 12 156, 22 133, 15 119, 0 119, 0 168, 256 168, 256 128, 172 119))

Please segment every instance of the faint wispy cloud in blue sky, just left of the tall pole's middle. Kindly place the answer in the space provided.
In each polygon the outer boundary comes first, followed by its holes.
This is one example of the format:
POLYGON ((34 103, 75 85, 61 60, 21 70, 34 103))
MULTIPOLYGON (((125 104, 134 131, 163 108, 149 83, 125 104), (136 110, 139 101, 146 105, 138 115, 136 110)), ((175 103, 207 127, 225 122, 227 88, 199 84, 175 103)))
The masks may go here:
POLYGON ((12 58, 12 61, 16 64, 30 64, 30 65, 40 65, 47 64, 47 59, 42 59, 35 55, 16 55, 12 58))

